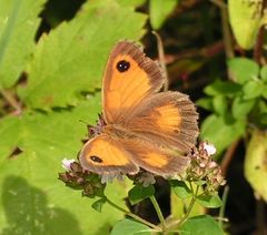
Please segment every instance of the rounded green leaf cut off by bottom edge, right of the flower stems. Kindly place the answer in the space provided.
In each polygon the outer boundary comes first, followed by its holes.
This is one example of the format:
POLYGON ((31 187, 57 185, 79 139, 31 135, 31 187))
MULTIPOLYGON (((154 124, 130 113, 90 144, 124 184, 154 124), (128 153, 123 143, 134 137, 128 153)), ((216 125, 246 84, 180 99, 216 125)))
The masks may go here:
POLYGON ((180 235, 224 235, 224 231, 210 215, 188 218, 180 227, 180 235))

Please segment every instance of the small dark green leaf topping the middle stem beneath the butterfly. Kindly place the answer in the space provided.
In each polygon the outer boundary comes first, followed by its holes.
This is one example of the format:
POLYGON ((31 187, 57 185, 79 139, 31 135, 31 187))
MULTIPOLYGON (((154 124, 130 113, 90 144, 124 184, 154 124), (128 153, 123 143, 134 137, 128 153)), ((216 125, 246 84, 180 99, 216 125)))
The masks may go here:
POLYGON ((138 202, 152 196, 155 194, 154 185, 149 185, 147 187, 142 186, 141 184, 136 184, 128 193, 130 203, 132 205, 137 204, 138 202))

